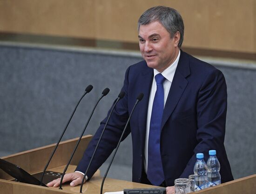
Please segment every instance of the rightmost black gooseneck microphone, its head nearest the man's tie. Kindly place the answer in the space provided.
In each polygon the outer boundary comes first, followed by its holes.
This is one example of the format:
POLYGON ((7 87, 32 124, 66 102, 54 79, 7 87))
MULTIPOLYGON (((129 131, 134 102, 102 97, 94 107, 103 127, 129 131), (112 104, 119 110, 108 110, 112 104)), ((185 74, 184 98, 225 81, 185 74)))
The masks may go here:
POLYGON ((117 144, 117 146, 116 146, 116 148, 115 148, 115 152, 114 152, 114 154, 113 154, 113 157, 111 158, 111 161, 110 161, 110 163, 109 163, 109 165, 108 165, 107 171, 106 171, 106 173, 105 173, 105 175, 104 175, 104 177, 103 177, 103 180, 102 180, 102 182, 101 182, 101 194, 102 194, 102 190, 103 190, 104 181, 105 181, 105 179, 106 179, 106 177, 107 177, 108 170, 109 170, 109 168, 110 168, 110 166, 111 166, 111 164, 112 164, 112 162, 113 162, 113 160, 114 160, 114 157, 115 157, 115 154, 116 154, 116 152, 117 152, 117 149, 118 149, 118 147, 119 147, 119 145, 120 145, 120 143, 121 143, 121 139, 122 139, 122 137, 123 137, 123 135, 124 135, 124 132, 125 132, 127 126, 128 126, 128 123, 129 123, 129 121, 130 121, 130 119, 131 119, 131 116, 132 116, 132 114, 133 114, 133 111, 134 111, 136 105, 138 104, 139 101, 142 100, 143 96, 144 96, 143 93, 141 93, 141 94, 138 95, 137 100, 136 100, 136 102, 135 102, 135 105, 134 105, 134 107, 133 107, 133 109, 132 109, 132 111, 131 111, 131 114, 130 114, 130 116, 128 117, 127 123, 126 123, 126 125, 125 125, 125 127, 124 127, 124 130, 123 130, 122 134, 121 134, 121 137, 120 137, 120 139, 119 139, 119 142, 118 142, 118 144, 117 144))

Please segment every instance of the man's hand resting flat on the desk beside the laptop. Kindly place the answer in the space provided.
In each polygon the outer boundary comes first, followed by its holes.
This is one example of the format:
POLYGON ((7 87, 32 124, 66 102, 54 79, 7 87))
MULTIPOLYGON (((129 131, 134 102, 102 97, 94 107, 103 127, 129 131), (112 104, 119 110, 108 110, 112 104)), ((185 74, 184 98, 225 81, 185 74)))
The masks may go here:
MULTIPOLYGON (((70 186, 74 187, 76 185, 81 184, 82 180, 83 180, 83 175, 81 173, 74 172, 74 173, 65 174, 63 177, 62 183, 67 182, 67 181, 72 181, 70 183, 70 186)), ((48 187, 59 187, 60 183, 61 183, 61 178, 58 178, 58 179, 55 179, 55 180, 47 183, 47 186, 48 187)))

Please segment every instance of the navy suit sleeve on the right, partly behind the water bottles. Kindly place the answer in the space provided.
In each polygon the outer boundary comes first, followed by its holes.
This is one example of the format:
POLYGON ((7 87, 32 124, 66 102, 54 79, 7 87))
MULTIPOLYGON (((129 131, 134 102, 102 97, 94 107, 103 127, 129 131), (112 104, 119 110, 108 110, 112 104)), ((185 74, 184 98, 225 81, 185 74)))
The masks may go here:
POLYGON ((227 161, 224 148, 224 136, 227 113, 227 86, 223 74, 215 69, 206 75, 197 96, 197 145, 180 177, 188 178, 194 174, 196 153, 209 157, 209 150, 215 149, 223 167, 227 161))

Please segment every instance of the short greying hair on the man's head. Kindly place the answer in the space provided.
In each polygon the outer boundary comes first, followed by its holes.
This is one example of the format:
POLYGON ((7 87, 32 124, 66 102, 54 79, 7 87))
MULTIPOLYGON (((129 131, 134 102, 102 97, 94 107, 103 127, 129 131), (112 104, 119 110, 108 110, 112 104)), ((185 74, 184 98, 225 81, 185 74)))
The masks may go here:
POLYGON ((151 22, 158 21, 170 33, 173 38, 176 32, 180 32, 181 38, 178 47, 182 47, 184 36, 184 24, 180 13, 171 8, 164 6, 151 7, 145 11, 138 20, 138 30, 141 25, 147 25, 151 22))

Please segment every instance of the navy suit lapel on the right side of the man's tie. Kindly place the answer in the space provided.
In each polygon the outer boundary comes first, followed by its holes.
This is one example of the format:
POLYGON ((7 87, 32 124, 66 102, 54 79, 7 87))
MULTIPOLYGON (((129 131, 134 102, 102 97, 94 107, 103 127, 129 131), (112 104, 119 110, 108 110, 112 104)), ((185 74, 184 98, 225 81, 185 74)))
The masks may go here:
POLYGON ((178 101, 180 100, 185 88, 188 85, 186 77, 190 74, 189 59, 185 53, 181 50, 180 59, 178 62, 177 69, 173 78, 173 82, 168 94, 168 98, 165 103, 162 117, 162 125, 164 126, 172 112, 174 111, 178 101))

